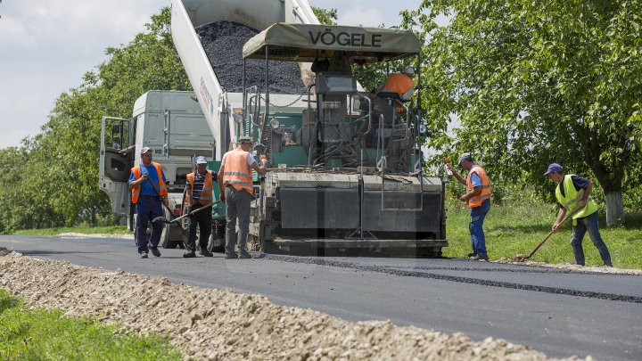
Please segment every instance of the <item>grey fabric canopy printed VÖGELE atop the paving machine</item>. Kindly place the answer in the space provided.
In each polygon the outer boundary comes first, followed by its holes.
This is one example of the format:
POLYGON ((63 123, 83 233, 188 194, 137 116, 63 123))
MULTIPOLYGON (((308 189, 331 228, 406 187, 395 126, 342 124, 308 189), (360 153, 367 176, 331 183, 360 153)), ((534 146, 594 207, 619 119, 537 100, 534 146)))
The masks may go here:
POLYGON ((364 61, 401 59, 419 53, 419 38, 411 30, 288 24, 278 22, 243 45, 243 58, 312 62, 341 51, 364 61))

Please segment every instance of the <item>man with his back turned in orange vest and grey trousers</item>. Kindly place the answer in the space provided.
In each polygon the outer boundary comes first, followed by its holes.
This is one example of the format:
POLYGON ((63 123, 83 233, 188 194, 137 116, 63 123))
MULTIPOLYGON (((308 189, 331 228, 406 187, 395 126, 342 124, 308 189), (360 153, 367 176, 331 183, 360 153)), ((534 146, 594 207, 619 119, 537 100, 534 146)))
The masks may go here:
POLYGON ((267 160, 263 159, 259 166, 250 152, 251 137, 242 136, 238 142, 235 150, 223 155, 221 167, 218 170, 218 175, 222 177, 222 182, 218 182, 220 200, 226 202, 226 259, 251 258, 246 248, 247 235, 250 231, 250 203, 254 199, 251 170, 256 170, 261 176, 267 170, 267 160), (238 254, 235 252, 237 217, 238 254))

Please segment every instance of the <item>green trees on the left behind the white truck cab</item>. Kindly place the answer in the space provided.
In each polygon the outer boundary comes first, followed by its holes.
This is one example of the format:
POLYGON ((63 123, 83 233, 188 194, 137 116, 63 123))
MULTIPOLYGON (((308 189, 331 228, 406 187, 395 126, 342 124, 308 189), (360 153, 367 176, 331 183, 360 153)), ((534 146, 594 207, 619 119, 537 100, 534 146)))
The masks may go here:
POLYGON ((0 150, 0 233, 23 228, 95 225, 111 216, 98 189, 101 117, 130 118, 136 99, 153 89, 191 89, 171 40, 169 7, 127 45, 61 94, 38 135, 0 150))

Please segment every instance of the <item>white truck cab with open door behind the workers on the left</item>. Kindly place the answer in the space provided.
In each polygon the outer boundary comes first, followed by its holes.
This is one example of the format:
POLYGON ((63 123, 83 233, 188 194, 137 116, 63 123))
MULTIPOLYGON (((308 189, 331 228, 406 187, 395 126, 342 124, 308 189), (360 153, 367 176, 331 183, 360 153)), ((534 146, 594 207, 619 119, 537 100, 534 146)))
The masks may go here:
MULTIPOLYGON (((102 119, 100 189, 109 196, 112 212, 127 219, 131 231, 136 225, 136 208, 128 179, 130 169, 140 163, 143 147, 154 150, 153 160, 161 163, 167 179, 173 213, 163 209, 167 218, 182 214, 186 175, 194 170, 193 157, 213 156, 214 137, 195 99, 193 92, 153 90, 136 100, 132 118, 102 119)), ((182 234, 177 224, 164 226, 162 247, 182 246, 182 234)))

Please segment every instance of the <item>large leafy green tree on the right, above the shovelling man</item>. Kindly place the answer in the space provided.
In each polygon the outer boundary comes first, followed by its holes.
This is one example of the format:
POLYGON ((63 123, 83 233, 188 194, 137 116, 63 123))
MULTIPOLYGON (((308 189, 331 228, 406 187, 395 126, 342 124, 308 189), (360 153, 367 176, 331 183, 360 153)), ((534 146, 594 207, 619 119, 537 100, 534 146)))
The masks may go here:
POLYGON ((430 37, 422 102, 440 135, 429 146, 481 154, 505 182, 550 189, 553 161, 592 173, 617 224, 622 189, 640 185, 640 13, 639 0, 426 0, 405 12, 430 37))

